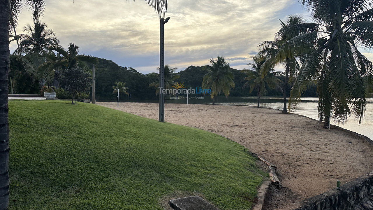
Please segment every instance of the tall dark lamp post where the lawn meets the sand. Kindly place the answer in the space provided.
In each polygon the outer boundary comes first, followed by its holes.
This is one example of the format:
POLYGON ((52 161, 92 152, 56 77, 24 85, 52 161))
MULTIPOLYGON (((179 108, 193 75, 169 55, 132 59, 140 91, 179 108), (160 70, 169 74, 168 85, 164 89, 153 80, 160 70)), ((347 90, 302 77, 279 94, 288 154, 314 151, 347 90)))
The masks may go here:
POLYGON ((159 116, 158 120, 164 122, 164 24, 168 22, 170 17, 160 19, 160 52, 159 52, 159 116))

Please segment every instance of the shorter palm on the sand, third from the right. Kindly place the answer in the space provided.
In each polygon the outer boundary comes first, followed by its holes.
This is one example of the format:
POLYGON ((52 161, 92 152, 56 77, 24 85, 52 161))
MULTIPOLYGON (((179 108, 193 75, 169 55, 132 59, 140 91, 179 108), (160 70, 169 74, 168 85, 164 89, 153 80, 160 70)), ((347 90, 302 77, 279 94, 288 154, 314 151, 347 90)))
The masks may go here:
POLYGON ((257 90, 257 103, 259 108, 260 96, 266 92, 266 86, 268 86, 270 89, 282 90, 280 87, 282 81, 276 76, 279 74, 283 74, 283 72, 275 71, 271 66, 266 65, 265 62, 269 58, 264 55, 258 54, 256 56, 251 56, 251 58, 254 61, 253 64, 248 64, 251 69, 241 70, 242 73, 247 75, 247 77, 242 79, 247 80, 244 86, 242 86, 242 89, 250 87, 250 93, 253 92, 253 90, 257 90), (263 68, 263 66, 266 67, 263 68))

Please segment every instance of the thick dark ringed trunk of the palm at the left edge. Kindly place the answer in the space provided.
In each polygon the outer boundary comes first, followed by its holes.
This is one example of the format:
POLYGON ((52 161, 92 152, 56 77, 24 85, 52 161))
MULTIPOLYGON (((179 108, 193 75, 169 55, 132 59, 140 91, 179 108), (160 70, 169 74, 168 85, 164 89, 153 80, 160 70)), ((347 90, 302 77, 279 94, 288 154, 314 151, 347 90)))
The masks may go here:
POLYGON ((9 1, 0 1, 0 210, 9 204, 9 1))

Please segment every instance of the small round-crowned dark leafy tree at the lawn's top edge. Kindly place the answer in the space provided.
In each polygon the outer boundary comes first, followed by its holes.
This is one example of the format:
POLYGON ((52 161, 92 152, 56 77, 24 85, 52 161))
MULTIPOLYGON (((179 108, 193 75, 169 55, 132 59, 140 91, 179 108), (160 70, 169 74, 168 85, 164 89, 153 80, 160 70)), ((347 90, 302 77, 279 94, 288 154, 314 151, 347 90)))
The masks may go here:
POLYGON ((92 83, 90 74, 77 66, 63 70, 60 81, 61 87, 71 94, 71 104, 74 104, 76 94, 88 93, 92 83))

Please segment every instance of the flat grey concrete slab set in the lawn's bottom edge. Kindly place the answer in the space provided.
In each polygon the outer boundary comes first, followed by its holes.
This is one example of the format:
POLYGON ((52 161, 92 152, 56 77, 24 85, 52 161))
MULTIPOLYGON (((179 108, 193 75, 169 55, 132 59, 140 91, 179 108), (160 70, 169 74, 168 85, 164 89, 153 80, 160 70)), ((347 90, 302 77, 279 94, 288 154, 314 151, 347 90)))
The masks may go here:
POLYGON ((170 206, 175 210, 219 210, 199 196, 170 200, 170 206))

